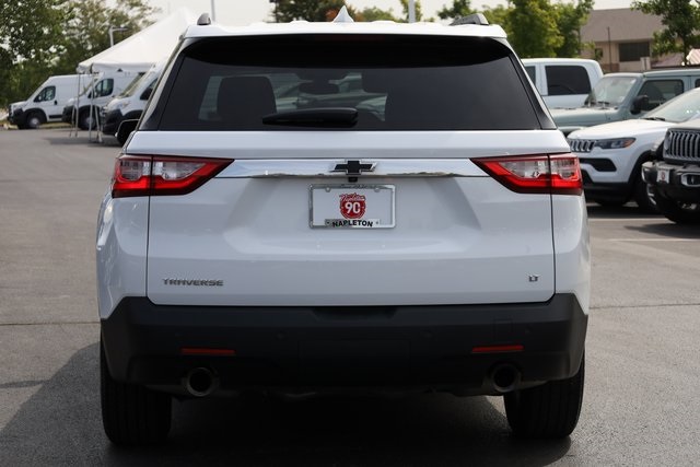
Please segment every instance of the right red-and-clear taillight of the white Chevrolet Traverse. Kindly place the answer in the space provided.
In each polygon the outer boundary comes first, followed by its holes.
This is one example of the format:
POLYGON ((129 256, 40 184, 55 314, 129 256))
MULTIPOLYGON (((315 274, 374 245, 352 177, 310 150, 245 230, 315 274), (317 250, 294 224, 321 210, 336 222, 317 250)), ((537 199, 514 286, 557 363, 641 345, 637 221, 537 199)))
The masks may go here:
POLYGON ((583 191, 579 157, 571 153, 471 161, 516 192, 581 195, 583 191))

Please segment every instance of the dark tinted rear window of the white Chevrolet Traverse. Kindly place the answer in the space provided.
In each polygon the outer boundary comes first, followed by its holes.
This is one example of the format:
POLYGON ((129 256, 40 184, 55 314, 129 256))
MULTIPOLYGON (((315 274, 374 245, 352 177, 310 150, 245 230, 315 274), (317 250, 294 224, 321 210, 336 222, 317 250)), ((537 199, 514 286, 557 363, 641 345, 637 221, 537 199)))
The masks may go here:
POLYGON ((515 63, 508 47, 489 38, 200 39, 182 52, 161 93, 167 100, 151 109, 143 129, 540 128, 515 63))

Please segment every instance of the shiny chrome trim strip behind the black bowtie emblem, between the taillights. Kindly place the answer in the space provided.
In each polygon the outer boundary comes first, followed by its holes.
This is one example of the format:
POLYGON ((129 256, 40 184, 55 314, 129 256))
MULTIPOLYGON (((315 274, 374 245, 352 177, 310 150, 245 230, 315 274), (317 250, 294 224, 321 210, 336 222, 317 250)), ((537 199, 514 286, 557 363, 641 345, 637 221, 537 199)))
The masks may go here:
MULTIPOLYGON (((349 175, 334 172, 336 164, 347 159, 237 159, 221 172, 218 178, 276 178, 322 177, 347 178, 349 175)), ((487 176, 468 159, 362 159, 375 164, 374 172, 363 172, 361 177, 476 177, 487 176)), ((355 177, 357 175, 350 175, 355 177)))

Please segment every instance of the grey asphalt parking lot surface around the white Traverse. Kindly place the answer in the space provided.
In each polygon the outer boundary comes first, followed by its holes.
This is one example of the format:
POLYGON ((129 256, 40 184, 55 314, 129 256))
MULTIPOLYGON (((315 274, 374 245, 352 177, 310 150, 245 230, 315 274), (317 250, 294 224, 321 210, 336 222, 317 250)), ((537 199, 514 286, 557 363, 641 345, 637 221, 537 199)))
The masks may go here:
POLYGON ((591 205, 592 310, 579 428, 509 434, 500 398, 264 396, 176 402, 163 446, 102 430, 97 208, 118 145, 0 130, 0 466, 696 465, 700 229, 591 205))

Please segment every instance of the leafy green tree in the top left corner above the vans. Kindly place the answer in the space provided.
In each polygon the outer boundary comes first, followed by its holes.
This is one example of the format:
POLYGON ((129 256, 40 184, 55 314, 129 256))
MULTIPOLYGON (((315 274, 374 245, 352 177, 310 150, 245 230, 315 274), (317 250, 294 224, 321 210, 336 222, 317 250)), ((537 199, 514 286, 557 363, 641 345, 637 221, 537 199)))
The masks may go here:
POLYGON ((0 104, 26 98, 62 40, 66 0, 0 2, 0 104), (22 70, 22 73, 19 73, 22 70))

